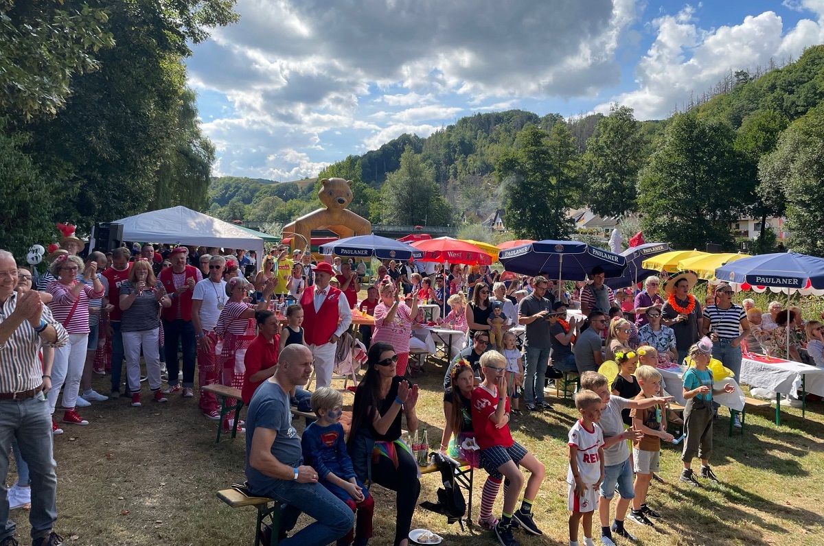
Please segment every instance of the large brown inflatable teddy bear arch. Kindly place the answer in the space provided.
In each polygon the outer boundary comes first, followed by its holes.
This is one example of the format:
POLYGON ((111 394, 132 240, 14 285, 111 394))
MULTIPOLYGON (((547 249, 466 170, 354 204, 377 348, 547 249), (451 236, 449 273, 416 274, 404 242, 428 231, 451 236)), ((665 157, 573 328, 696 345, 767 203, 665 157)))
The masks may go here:
POLYGON ((372 233, 372 223, 346 210, 352 202, 352 180, 325 178, 317 193, 325 208, 318 208, 283 226, 283 236, 293 236, 292 248, 302 249, 311 240, 311 231, 327 229, 343 239, 372 233))

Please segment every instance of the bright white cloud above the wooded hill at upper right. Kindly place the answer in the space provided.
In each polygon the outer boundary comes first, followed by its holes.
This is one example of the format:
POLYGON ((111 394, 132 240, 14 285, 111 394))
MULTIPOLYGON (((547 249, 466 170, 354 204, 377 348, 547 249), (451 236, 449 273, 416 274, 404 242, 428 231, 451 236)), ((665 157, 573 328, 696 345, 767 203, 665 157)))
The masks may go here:
POLYGON ((595 111, 606 114, 618 102, 634 108, 639 119, 662 119, 691 93, 699 96, 730 70, 765 67, 770 58, 798 58, 805 47, 824 42, 824 0, 803 0, 799 8, 817 13, 818 21, 798 21, 784 35, 775 12, 747 16, 739 25, 714 30, 700 28, 690 6, 677 15, 658 17, 651 23, 656 39, 636 67, 638 89, 597 105, 595 111))

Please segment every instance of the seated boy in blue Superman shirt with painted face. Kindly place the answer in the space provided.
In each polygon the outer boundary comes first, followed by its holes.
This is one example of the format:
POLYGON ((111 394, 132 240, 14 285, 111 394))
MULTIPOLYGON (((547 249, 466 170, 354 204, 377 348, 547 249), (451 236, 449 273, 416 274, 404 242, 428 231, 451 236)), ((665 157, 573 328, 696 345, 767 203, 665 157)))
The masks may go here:
POLYGON ((354 532, 349 530, 337 546, 365 546, 372 537, 375 501, 363 483, 358 483, 346 451, 344 427, 340 425, 343 405, 343 397, 330 387, 321 387, 311 394, 311 408, 317 421, 303 431, 303 460, 317 471, 318 482, 358 513, 354 532))

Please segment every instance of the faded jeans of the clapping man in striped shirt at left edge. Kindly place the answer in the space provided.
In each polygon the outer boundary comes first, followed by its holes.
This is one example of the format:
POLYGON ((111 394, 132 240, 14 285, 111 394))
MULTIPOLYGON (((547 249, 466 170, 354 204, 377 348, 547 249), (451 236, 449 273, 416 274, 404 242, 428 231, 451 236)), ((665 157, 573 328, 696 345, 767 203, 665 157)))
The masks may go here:
MULTIPOLYGON (((14 536, 8 519, 6 477, 12 438, 29 464, 31 538, 48 536, 57 520, 57 463, 52 455, 51 412, 42 394, 23 400, 0 400, 0 543, 14 536)), ((350 511, 351 513, 351 511, 350 511)))

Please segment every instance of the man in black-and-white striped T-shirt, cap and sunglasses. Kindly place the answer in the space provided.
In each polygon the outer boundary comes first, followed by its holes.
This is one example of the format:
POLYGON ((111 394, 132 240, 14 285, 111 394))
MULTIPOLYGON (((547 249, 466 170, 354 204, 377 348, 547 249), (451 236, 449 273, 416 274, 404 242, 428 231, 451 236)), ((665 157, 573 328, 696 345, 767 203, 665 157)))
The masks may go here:
MULTIPOLYGON (((700 331, 713 340, 713 358, 732 370, 735 380, 741 380, 741 342, 750 334, 750 323, 744 308, 733 303, 734 293, 726 282, 715 288, 715 305, 704 308, 700 331)), ((738 413, 734 419, 735 427, 741 428, 738 413)))

